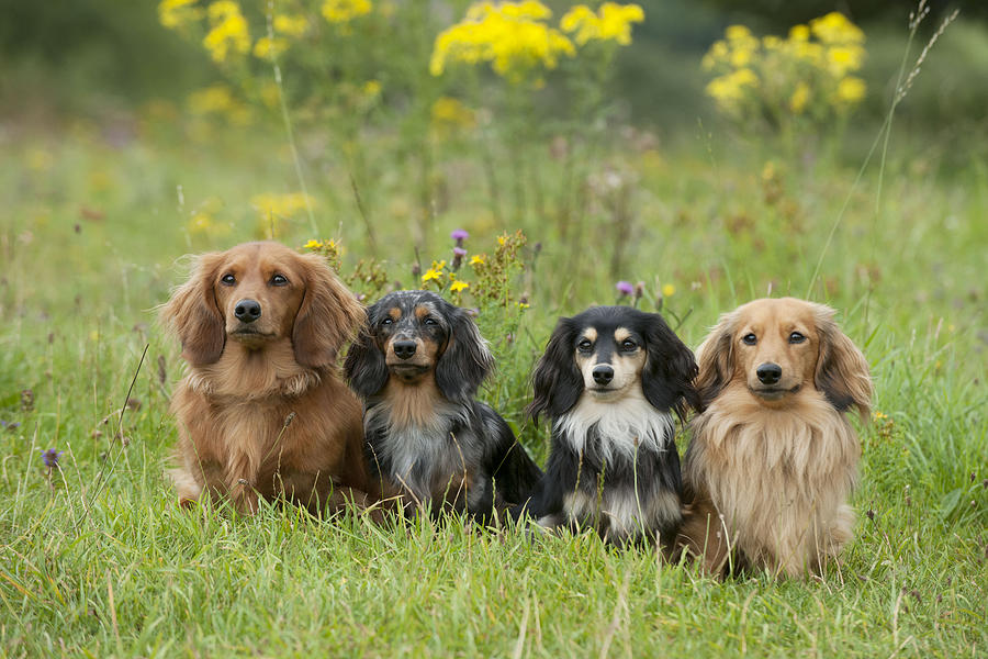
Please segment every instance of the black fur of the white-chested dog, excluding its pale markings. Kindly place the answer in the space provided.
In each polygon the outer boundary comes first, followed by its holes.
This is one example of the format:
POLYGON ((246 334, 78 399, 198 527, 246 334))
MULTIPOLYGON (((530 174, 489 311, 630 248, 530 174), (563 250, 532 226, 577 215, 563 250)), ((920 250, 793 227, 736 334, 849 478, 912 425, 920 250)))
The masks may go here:
MULTIPOLYGON (((641 393, 658 413, 674 412, 682 418, 687 407, 699 405, 699 398, 692 384, 697 372, 693 353, 670 330, 662 316, 627 306, 598 306, 573 317, 560 319, 535 369, 535 395, 528 407, 536 421, 540 414, 547 414, 552 421, 546 474, 532 492, 527 509, 518 506, 513 514, 530 514, 547 526, 591 525, 602 537, 617 544, 653 543, 659 538, 660 541, 671 543, 681 522, 682 495, 680 458, 671 422, 664 426, 661 442, 655 443, 662 448, 647 443, 632 444, 636 448, 631 455, 611 451, 609 463, 602 455, 603 438, 598 423, 590 426, 582 455, 574 447, 574 438, 565 435, 565 423, 560 423, 569 414, 579 412, 577 403, 582 404, 584 395, 591 396, 591 402, 587 402, 592 405, 588 407, 591 410, 614 404, 592 402, 593 394, 585 393, 583 375, 576 364, 576 344, 588 327, 597 332, 594 355, 598 358, 605 356, 599 361, 602 364, 609 362, 610 355, 617 349, 613 344, 618 327, 641 337, 644 345, 639 349, 644 349, 647 354, 640 375, 641 393), (602 344, 607 340, 610 346, 602 344), (575 511, 568 507, 568 498, 571 502, 581 498, 596 501, 597 514, 594 518, 575 515, 575 511), (610 501, 633 501, 638 511, 637 528, 611 528, 611 521, 616 517, 609 518, 606 513, 599 512, 608 509, 610 501), (661 511, 661 514, 642 513, 652 510, 661 511)), ((644 413, 648 414, 648 410, 644 413)), ((624 442, 633 443, 635 438, 625 437, 624 442)))

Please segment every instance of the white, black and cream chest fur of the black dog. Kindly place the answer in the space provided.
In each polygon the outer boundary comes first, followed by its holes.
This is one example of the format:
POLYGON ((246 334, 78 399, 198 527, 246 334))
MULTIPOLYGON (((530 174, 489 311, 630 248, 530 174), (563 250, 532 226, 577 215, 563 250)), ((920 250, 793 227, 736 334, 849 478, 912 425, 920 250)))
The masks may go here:
POLYGON ((640 394, 600 403, 585 393, 557 420, 555 432, 579 456, 576 488, 563 496, 568 522, 591 524, 616 541, 678 524, 678 492, 665 473, 678 470, 666 463, 674 432, 669 413, 640 394))

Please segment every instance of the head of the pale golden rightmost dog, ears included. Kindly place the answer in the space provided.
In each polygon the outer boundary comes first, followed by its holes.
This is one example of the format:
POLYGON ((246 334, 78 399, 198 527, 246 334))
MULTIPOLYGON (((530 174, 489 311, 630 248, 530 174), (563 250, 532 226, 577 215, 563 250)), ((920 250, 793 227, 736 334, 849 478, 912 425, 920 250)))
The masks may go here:
POLYGON ((767 407, 785 406, 813 387, 838 411, 856 407, 866 416, 868 365, 833 315, 823 304, 782 298, 755 300, 721 316, 697 350, 704 404, 732 382, 767 407))

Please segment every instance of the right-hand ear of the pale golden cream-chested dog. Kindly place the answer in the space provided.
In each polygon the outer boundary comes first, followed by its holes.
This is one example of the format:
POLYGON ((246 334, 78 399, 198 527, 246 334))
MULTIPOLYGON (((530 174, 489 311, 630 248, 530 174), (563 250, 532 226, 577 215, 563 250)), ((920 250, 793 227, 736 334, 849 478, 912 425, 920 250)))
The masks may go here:
POLYGON ((868 362, 846 334, 833 322, 833 310, 815 304, 820 354, 815 381, 839 412, 856 407, 863 421, 872 406, 872 377, 868 362))

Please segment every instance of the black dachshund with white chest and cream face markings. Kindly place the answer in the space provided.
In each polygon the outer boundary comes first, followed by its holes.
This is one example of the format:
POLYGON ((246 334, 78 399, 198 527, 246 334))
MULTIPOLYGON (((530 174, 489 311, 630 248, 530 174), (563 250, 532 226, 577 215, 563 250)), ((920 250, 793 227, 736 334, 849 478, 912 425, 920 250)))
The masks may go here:
POLYGON ((532 375, 546 414, 546 476, 527 512, 540 526, 591 526, 615 545, 671 546, 682 521, 674 414, 698 403, 693 353, 661 315, 596 306, 560 319, 532 375))

